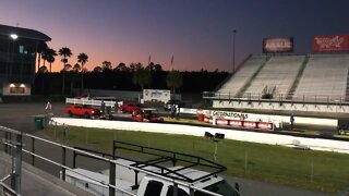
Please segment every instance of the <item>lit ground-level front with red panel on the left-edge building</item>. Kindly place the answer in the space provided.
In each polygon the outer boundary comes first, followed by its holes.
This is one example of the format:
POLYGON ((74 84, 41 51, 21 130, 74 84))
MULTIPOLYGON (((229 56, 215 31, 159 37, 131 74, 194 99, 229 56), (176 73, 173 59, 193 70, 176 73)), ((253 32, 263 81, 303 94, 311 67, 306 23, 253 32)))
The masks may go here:
POLYGON ((31 84, 4 83, 2 85, 3 96, 31 96, 31 84))

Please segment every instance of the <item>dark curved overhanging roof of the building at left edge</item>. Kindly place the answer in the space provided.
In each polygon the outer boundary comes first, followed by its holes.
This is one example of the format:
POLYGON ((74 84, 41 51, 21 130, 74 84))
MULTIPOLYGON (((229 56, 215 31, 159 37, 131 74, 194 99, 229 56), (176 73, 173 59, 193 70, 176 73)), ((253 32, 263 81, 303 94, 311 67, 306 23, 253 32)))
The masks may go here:
POLYGON ((38 30, 28 29, 28 28, 21 28, 15 26, 7 26, 0 24, 0 35, 11 35, 16 34, 19 37, 27 38, 27 39, 35 39, 41 41, 50 41, 51 38, 38 30))

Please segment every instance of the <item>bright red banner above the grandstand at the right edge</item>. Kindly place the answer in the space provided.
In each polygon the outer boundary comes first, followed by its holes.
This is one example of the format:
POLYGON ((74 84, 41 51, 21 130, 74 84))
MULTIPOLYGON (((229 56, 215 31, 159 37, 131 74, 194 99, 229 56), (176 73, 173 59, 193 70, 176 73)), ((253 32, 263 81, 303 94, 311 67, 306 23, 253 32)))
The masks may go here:
POLYGON ((329 35, 314 37, 314 51, 349 50, 349 35, 329 35))

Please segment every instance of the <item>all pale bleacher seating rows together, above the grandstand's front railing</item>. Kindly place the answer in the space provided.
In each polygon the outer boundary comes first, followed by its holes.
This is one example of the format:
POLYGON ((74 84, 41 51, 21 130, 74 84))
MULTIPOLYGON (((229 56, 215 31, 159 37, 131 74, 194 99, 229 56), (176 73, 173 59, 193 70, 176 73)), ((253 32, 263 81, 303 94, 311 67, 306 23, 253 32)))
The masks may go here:
POLYGON ((274 99, 292 95, 287 100, 349 100, 348 73, 349 53, 272 56, 269 60, 252 56, 218 93, 233 98, 240 91, 241 97, 254 99, 267 89, 274 99))

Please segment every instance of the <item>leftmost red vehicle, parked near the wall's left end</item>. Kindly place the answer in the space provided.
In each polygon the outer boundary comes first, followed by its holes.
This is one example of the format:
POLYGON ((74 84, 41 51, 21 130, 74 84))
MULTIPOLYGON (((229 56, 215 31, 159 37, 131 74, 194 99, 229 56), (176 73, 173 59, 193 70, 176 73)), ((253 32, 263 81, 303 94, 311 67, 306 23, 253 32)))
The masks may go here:
POLYGON ((70 117, 77 115, 86 119, 99 119, 101 115, 100 110, 83 105, 72 105, 65 107, 64 110, 70 117))

